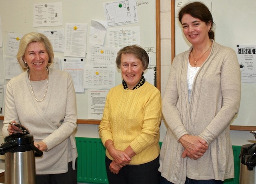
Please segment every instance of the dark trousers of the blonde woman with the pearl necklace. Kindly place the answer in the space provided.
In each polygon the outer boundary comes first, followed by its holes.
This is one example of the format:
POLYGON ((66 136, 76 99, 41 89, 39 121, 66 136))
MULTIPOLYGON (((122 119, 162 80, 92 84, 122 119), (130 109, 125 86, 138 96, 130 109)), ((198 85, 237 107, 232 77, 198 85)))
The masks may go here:
POLYGON ((76 170, 72 169, 72 162, 68 163, 68 172, 62 174, 37 174, 36 184, 77 184, 76 170))

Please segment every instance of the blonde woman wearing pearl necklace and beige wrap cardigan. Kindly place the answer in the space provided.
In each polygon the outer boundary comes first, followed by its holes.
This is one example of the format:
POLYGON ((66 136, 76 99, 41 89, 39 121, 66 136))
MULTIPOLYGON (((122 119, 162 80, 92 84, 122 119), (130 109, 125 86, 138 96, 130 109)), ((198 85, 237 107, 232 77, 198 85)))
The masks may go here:
POLYGON ((17 59, 24 72, 6 86, 3 135, 16 133, 19 123, 44 152, 36 157, 37 184, 76 184, 76 93, 67 72, 52 69, 54 53, 41 33, 20 40, 17 59), (7 131, 6 131, 7 130, 7 131))

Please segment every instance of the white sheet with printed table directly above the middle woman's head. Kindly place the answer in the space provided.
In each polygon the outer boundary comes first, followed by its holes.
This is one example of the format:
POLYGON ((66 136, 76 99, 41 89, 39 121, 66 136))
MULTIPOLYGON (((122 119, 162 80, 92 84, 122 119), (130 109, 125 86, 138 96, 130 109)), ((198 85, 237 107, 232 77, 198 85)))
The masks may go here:
POLYGON ((111 47, 125 47, 127 45, 140 45, 140 27, 108 28, 108 45, 111 47))

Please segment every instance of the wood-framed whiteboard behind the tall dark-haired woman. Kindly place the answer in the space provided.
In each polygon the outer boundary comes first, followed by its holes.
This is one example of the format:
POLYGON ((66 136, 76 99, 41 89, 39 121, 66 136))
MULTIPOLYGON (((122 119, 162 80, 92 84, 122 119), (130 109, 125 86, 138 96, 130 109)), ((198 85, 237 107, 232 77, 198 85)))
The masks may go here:
MULTIPOLYGON (((191 46, 184 37, 178 20, 178 11, 190 0, 172 0, 172 57, 191 46)), ((212 13, 215 26, 215 41, 236 51, 237 45, 256 45, 256 1, 251 0, 202 0, 212 13)), ((172 59, 173 59, 172 58, 172 59)), ((256 130, 256 83, 242 82, 240 109, 230 124, 231 130, 256 130)))

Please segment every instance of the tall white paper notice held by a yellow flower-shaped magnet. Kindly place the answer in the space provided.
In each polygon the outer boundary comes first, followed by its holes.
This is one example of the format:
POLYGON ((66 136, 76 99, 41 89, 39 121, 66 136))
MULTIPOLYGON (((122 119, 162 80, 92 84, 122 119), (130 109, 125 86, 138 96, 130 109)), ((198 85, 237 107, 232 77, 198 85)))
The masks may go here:
POLYGON ((86 23, 66 23, 65 56, 85 58, 87 27, 86 23))

